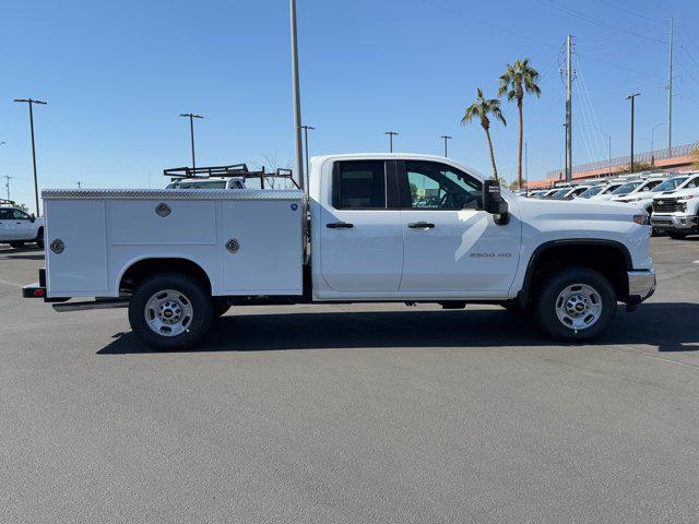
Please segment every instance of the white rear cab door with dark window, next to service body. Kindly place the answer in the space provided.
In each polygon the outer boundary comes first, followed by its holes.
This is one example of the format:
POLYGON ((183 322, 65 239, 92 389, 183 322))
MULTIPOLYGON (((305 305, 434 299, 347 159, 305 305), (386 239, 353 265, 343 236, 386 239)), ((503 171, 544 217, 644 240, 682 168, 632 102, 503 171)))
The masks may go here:
POLYGON ((346 297, 398 291, 403 233, 395 163, 335 162, 320 219, 321 274, 346 297))

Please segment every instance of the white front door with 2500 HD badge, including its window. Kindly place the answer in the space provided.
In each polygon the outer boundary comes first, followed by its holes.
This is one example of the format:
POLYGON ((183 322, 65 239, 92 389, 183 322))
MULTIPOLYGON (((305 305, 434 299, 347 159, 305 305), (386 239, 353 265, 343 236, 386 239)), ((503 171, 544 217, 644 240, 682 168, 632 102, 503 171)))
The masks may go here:
POLYGON ((447 164, 399 162, 404 263, 401 291, 506 294, 514 278, 520 223, 482 211, 483 183, 447 164))

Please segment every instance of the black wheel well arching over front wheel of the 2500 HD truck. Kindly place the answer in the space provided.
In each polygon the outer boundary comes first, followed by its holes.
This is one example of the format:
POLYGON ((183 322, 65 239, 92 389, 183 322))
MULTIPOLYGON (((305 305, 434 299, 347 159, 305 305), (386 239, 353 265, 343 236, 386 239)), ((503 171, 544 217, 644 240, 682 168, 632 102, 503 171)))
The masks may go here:
POLYGON ((564 243, 553 245, 535 252, 526 270, 523 295, 520 302, 526 305, 532 291, 545 276, 558 267, 581 265, 604 275, 620 301, 628 299, 627 271, 631 267, 628 251, 616 243, 564 243))

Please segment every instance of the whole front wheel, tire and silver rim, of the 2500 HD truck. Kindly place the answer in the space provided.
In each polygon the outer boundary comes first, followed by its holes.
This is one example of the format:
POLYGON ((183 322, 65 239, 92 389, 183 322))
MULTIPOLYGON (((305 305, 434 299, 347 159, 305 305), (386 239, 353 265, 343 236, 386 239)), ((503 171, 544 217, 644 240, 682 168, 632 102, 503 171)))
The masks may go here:
POLYGON ((535 314, 541 326, 560 341, 587 341, 605 331, 616 314, 616 291, 589 267, 565 267, 538 289, 535 314))

